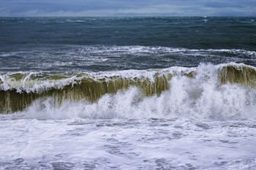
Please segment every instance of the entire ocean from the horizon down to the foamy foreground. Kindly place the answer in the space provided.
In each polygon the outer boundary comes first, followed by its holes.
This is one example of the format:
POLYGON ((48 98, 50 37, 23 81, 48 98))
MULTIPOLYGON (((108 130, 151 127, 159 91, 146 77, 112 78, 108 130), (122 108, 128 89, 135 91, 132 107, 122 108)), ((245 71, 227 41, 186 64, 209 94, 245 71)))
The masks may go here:
POLYGON ((0 18, 0 169, 256 169, 256 18, 0 18))

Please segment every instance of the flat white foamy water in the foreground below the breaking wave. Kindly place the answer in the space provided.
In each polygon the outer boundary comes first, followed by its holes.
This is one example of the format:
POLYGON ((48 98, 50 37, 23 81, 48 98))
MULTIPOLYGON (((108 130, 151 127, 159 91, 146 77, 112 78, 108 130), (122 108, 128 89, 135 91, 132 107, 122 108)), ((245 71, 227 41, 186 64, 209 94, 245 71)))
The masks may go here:
POLYGON ((255 120, 12 115, 1 117, 1 131, 2 169, 255 169, 256 163, 255 120))

